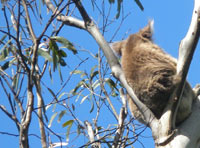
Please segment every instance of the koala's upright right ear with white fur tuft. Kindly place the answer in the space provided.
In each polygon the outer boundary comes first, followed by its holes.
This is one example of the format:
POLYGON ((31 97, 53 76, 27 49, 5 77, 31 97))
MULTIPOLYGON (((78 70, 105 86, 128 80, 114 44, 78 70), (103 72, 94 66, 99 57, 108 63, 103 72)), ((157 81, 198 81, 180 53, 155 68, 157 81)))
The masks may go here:
POLYGON ((148 25, 140 31, 142 37, 149 40, 152 40, 153 32, 154 32, 154 20, 150 20, 148 25))

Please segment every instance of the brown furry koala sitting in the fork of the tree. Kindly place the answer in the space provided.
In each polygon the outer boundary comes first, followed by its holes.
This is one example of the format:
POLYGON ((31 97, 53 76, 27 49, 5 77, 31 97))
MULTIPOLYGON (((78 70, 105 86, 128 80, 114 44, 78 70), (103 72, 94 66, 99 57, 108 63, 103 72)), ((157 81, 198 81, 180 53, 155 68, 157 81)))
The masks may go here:
MULTIPOLYGON (((153 23, 150 21, 138 33, 112 43, 111 47, 121 56, 127 83, 139 100, 159 119, 180 79, 176 75, 177 60, 153 43, 153 23)), ((195 97, 190 84, 186 82, 177 112, 177 124, 189 116, 195 97)), ((129 96, 128 104, 132 115, 142 121, 141 113, 129 96)))

